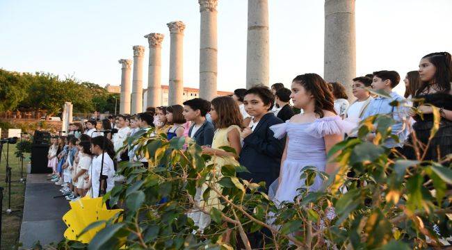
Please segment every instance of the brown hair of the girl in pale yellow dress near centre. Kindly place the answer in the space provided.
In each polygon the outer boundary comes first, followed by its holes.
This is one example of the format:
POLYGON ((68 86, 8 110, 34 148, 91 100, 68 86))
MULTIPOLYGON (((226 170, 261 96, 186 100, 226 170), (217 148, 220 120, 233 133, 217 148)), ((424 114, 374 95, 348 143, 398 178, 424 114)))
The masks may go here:
POLYGON ((232 97, 216 97, 211 101, 211 106, 215 108, 218 115, 218 119, 213 121, 215 128, 227 128, 231 125, 243 127, 243 118, 239 106, 232 97))

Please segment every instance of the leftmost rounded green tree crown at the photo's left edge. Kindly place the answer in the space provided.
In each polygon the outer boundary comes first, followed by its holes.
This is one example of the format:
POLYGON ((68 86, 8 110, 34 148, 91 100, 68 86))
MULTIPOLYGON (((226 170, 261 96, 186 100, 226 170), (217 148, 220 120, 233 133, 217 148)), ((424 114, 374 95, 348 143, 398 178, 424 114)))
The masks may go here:
POLYGON ((29 78, 0 69, 0 112, 14 110, 28 95, 29 78))

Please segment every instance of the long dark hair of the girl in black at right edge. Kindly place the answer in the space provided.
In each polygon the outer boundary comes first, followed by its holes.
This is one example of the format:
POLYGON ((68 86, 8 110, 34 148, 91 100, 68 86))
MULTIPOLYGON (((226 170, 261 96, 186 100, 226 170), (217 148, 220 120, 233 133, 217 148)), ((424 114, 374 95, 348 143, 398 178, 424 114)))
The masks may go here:
MULTIPOLYGON (((435 52, 429 53, 423 56, 422 59, 427 59, 430 63, 435 65, 435 84, 439 88, 439 92, 449 92, 451 91, 452 82, 452 57, 448 52, 435 52)), ((422 93, 424 90, 430 88, 430 83, 423 82, 422 87, 416 92, 417 94, 422 93)))

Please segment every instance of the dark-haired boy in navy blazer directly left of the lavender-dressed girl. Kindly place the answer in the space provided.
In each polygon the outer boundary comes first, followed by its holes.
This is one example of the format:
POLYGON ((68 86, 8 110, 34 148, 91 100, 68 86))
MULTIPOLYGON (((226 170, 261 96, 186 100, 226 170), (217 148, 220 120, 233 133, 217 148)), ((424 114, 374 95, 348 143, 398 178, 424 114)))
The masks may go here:
POLYGON ((250 127, 243 129, 243 147, 239 162, 250 173, 239 173, 247 181, 266 182, 268 188, 279 176, 284 140, 273 137, 270 126, 282 123, 271 112, 275 96, 264 86, 250 88, 245 93, 245 110, 253 117, 250 127))

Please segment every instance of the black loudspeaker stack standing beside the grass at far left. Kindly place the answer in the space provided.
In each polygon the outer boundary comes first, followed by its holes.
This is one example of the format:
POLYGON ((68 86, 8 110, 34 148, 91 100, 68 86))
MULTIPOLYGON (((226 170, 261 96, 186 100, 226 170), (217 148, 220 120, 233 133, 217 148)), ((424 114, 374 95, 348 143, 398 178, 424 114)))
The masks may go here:
POLYGON ((31 174, 50 174, 53 169, 47 167, 47 154, 50 147, 50 133, 35 131, 31 145, 31 174))

